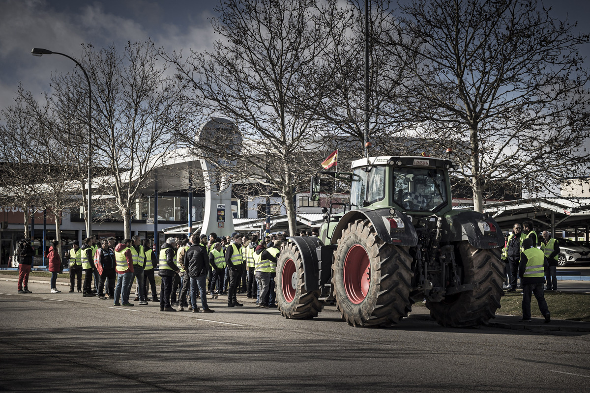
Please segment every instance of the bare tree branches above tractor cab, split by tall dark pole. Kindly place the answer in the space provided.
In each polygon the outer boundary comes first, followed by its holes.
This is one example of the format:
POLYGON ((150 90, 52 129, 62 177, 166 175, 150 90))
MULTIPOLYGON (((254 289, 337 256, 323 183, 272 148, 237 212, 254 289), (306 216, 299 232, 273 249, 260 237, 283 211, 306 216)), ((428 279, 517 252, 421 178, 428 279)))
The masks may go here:
POLYGON ((408 60, 391 56, 388 46, 398 40, 398 17, 389 0, 368 0, 368 34, 365 34, 365 1, 349 0, 346 6, 329 0, 323 6, 322 22, 330 34, 324 62, 332 65, 327 75, 329 88, 319 116, 333 131, 326 135, 330 146, 346 150, 352 158, 362 157, 365 122, 369 140, 379 151, 391 148, 411 119, 405 106, 402 81, 409 77, 408 60), (368 75, 365 75, 365 38, 368 42, 368 75), (368 96, 365 95, 368 77, 368 96), (365 112, 368 100, 368 119, 365 112), (331 142, 331 143, 330 143, 331 142), (334 146, 337 144, 337 146, 334 146), (360 148, 359 148, 360 147, 360 148))

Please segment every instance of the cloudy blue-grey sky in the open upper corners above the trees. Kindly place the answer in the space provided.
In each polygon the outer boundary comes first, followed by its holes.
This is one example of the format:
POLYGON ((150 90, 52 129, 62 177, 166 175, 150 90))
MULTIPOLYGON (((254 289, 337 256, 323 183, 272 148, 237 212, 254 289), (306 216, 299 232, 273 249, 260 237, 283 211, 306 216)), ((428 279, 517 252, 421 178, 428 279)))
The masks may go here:
MULTIPOLYGON (((12 105, 19 81, 25 90, 40 94, 49 89, 52 72, 75 67, 58 55, 33 57, 33 47, 80 57, 82 43, 122 48, 128 40, 152 38, 169 51, 198 51, 215 39, 209 18, 218 1, 0 0, 0 108, 12 105)), ((588 0, 545 4, 553 7, 556 17, 569 15, 570 21, 579 21, 581 31, 590 31, 588 0)), ((589 48, 584 52, 590 55, 589 48)))

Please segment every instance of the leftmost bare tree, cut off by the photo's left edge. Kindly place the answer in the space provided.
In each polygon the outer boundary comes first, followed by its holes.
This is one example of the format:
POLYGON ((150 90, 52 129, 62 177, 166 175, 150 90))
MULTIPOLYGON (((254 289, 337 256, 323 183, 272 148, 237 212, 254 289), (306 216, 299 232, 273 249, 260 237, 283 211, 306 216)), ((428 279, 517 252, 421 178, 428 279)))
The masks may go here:
POLYGON ((23 210, 24 233, 28 238, 31 236, 28 227, 30 208, 38 203, 35 184, 41 179, 44 158, 35 113, 43 109, 35 107, 37 104, 32 94, 22 85, 19 85, 14 101, 14 105, 0 112, 0 200, 4 206, 12 204, 23 210))

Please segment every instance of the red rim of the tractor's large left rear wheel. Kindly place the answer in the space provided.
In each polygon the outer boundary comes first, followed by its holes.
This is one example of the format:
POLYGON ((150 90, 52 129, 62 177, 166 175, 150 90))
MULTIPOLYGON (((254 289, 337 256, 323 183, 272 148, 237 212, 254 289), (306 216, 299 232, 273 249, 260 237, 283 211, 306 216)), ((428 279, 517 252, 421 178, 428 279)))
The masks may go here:
POLYGON ((350 247, 344 259, 342 276, 346 296, 351 302, 359 304, 365 300, 371 285, 370 269, 369 255, 365 247, 361 245, 350 247))

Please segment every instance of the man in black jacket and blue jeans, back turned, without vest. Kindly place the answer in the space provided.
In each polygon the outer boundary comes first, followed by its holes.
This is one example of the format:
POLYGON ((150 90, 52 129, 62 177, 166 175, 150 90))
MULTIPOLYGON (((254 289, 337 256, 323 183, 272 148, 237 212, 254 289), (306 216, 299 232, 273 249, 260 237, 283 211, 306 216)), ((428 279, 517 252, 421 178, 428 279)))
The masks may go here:
POLYGON ((191 236, 191 247, 185 253, 185 269, 191 278, 191 303, 192 312, 199 312, 196 306, 196 290, 201 294, 201 305, 203 312, 214 312, 207 305, 207 273, 209 272, 209 258, 207 247, 199 243, 199 239, 191 236))

